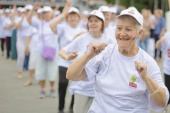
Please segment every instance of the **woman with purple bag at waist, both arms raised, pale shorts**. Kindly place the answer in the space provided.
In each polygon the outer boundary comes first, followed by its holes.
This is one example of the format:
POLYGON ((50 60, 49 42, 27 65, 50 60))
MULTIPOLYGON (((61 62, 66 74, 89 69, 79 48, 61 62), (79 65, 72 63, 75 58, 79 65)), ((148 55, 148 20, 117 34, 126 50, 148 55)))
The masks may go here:
MULTIPOLYGON (((71 5, 71 0, 67 0, 67 4, 63 9, 63 12, 60 16, 55 18, 56 25, 65 17, 68 12, 68 9, 71 5)), ((53 21, 52 8, 50 6, 43 7, 43 19, 32 18, 34 11, 39 7, 39 4, 36 3, 27 16, 27 20, 33 27, 36 27, 38 30, 38 43, 36 45, 36 66, 35 66, 35 77, 40 84, 40 99, 45 98, 45 83, 46 78, 50 81, 50 96, 55 98, 55 81, 57 75, 57 52, 58 52, 58 33, 55 34, 51 23, 53 21), (48 54, 50 49, 52 54, 48 54), (47 55, 53 55, 52 57, 47 57, 47 55)))

